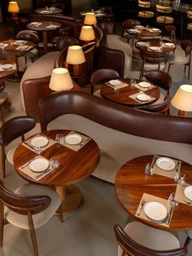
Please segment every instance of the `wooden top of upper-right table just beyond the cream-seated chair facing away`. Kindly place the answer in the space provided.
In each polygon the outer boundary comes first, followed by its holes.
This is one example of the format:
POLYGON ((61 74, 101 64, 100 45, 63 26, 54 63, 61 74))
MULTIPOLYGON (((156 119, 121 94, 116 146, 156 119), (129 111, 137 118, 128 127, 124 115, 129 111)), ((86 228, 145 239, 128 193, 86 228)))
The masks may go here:
POLYGON ((177 47, 176 44, 173 44, 173 46, 165 46, 164 44, 165 43, 170 43, 170 41, 168 40, 164 40, 164 39, 159 39, 159 38, 150 38, 150 39, 143 39, 143 40, 139 40, 135 43, 135 47, 138 49, 138 50, 146 50, 148 51, 149 50, 149 47, 148 46, 141 46, 141 45, 138 45, 139 42, 149 42, 150 43, 150 46, 157 46, 159 47, 160 46, 160 43, 162 42, 162 51, 163 52, 169 52, 169 51, 174 51, 177 47))

